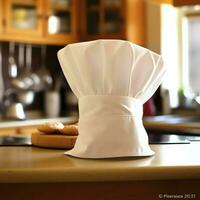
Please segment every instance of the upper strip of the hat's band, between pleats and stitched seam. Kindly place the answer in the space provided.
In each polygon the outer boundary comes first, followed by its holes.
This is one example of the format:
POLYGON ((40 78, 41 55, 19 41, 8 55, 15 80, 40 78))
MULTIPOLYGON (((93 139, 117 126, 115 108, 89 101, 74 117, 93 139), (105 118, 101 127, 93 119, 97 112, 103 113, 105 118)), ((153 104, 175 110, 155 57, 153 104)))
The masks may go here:
POLYGON ((81 118, 137 116, 142 117, 143 105, 132 97, 111 95, 89 95, 79 99, 81 118))

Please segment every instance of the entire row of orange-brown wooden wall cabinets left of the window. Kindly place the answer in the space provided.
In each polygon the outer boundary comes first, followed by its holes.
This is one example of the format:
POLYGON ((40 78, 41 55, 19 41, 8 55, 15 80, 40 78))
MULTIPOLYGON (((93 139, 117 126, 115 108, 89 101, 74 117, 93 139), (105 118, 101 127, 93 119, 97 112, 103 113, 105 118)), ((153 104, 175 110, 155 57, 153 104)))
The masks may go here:
POLYGON ((0 0, 0 41, 66 45, 110 38, 144 45, 144 14, 144 0, 0 0))

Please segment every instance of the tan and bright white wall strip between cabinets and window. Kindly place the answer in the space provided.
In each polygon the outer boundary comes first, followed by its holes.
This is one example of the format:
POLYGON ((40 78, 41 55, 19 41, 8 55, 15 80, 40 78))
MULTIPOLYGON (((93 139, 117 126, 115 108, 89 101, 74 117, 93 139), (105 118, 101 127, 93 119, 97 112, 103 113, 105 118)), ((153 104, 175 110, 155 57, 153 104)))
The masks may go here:
POLYGON ((169 91, 171 107, 178 105, 182 80, 181 17, 171 5, 146 3, 146 46, 161 54, 168 67, 162 88, 169 91))

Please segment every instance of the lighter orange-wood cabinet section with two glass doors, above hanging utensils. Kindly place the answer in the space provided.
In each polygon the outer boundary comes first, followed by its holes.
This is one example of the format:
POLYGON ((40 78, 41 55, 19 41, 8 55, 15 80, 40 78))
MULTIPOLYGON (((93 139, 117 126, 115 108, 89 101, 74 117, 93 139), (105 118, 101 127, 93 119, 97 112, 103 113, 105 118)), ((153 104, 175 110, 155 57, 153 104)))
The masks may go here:
MULTIPOLYGON (((77 41, 76 0, 1 0, 5 18, 0 40, 65 45, 77 41)), ((1 30, 1 29, 0 29, 1 30)))

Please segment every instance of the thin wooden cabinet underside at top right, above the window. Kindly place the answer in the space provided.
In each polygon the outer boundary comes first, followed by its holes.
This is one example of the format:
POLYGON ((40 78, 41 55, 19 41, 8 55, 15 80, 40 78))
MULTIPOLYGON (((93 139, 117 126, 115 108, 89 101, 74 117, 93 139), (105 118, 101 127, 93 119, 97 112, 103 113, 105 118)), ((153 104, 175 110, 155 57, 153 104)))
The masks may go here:
POLYGON ((200 0, 147 0, 155 3, 166 3, 173 6, 186 6, 200 4, 200 0))

